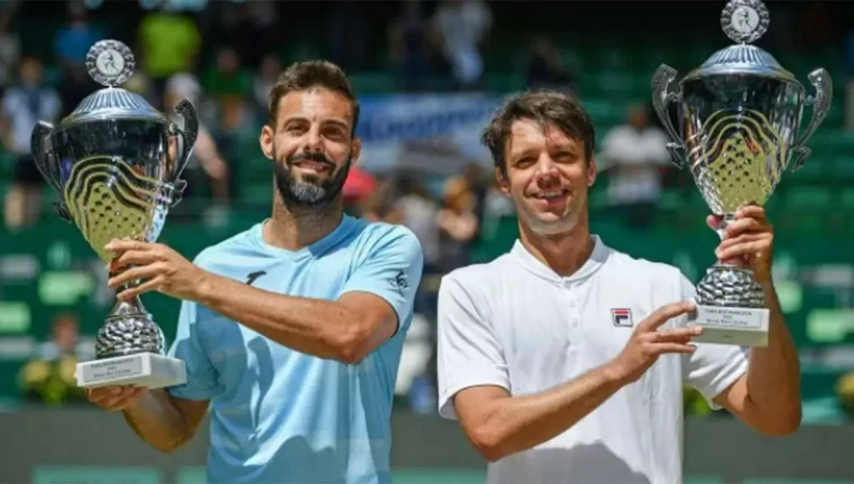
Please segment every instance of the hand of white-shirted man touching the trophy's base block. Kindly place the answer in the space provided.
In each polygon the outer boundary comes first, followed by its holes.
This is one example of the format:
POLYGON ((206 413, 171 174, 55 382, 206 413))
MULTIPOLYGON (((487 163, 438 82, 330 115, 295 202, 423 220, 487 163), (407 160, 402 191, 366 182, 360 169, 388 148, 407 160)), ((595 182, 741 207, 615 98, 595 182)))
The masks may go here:
POLYGON ((703 328, 688 326, 659 331, 658 329, 672 318, 692 312, 693 303, 678 302, 658 308, 635 328, 631 339, 623 351, 611 362, 617 378, 621 382, 636 382, 652 366, 659 356, 665 353, 693 353, 695 347, 691 338, 700 335, 703 328))

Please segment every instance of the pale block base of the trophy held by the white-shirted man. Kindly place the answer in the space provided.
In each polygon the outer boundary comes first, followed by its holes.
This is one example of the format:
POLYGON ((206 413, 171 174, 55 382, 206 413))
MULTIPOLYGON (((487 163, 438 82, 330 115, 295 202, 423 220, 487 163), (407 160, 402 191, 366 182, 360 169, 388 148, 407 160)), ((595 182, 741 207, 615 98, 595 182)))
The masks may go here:
POLYGON ((701 306, 688 318, 703 327, 692 341, 742 347, 767 347, 770 311, 766 308, 701 306))

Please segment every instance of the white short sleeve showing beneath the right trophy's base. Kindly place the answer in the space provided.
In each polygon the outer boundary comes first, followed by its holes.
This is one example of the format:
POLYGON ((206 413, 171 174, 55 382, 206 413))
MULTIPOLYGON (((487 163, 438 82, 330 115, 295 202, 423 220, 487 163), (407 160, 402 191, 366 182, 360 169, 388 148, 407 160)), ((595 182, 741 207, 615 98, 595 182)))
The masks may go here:
MULTIPOLYGON (((681 277, 681 300, 694 300, 695 289, 687 277, 681 277)), ((747 371, 749 348, 733 345, 696 343, 697 351, 682 359, 685 383, 699 391, 714 410, 721 405, 714 402, 747 371)))

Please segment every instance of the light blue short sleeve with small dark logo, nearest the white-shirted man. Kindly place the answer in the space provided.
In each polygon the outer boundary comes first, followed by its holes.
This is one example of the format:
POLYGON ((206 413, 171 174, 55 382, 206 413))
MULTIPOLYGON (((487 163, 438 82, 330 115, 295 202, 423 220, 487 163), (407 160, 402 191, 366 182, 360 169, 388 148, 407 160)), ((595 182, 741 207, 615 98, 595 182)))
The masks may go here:
POLYGON ((366 292, 383 298, 397 313, 397 332, 406 332, 423 271, 424 254, 418 238, 407 228, 395 226, 374 244, 342 294, 366 292))

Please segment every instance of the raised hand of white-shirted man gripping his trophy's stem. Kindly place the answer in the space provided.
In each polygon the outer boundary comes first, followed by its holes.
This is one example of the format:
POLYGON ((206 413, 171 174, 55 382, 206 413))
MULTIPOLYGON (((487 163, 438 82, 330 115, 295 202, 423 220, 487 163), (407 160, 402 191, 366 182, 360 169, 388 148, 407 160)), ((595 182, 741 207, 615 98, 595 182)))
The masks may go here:
MULTIPOLYGON (((709 226, 717 230, 722 217, 710 215, 709 226)), ((749 268, 758 283, 771 282, 774 252, 774 227, 765 217, 765 209, 749 205, 735 213, 735 220, 724 230, 723 240, 715 249, 724 263, 749 268)))

